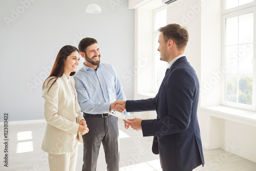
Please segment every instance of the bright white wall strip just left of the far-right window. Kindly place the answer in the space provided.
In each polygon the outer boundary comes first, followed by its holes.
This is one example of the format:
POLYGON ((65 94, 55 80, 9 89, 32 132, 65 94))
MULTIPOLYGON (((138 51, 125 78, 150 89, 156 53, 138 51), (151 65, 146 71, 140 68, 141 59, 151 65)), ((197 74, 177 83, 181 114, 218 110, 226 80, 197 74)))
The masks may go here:
POLYGON ((201 106, 221 102, 222 1, 204 1, 201 8, 201 106), (211 98, 214 96, 214 98, 211 98), (210 99, 210 100, 208 100, 210 99))

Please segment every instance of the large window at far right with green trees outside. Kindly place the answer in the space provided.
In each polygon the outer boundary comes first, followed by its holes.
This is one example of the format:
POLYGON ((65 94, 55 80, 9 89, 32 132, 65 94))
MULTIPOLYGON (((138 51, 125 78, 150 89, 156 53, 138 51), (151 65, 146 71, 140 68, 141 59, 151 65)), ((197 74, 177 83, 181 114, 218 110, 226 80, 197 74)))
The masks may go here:
POLYGON ((253 0, 226 0, 224 7, 228 11, 223 10, 222 104, 255 110, 256 68, 253 42, 256 6, 253 0))

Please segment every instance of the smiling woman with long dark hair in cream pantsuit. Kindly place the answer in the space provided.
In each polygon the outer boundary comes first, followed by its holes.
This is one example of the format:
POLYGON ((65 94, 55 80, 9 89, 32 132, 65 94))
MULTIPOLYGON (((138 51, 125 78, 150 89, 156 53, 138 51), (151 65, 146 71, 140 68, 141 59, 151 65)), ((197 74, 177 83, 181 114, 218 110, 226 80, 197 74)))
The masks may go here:
POLYGON ((75 80, 79 52, 76 47, 61 48, 43 88, 47 121, 41 149, 48 153, 50 170, 73 171, 76 168, 78 141, 88 133, 86 120, 79 112, 75 80))

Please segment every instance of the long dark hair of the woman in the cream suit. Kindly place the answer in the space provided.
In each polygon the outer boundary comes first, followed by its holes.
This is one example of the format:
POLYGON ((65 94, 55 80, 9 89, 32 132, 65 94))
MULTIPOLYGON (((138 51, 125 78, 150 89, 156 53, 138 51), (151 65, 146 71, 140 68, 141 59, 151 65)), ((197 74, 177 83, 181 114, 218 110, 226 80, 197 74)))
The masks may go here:
MULTIPOLYGON (((50 76, 47 78, 47 79, 49 79, 50 77, 55 77, 55 78, 52 78, 52 79, 55 79, 54 82, 52 83, 52 85, 57 81, 57 79, 58 79, 59 77, 61 77, 61 76, 63 75, 63 73, 64 73, 64 62, 65 62, 65 60, 67 59, 67 57, 70 56, 70 54, 71 54, 72 52, 75 52, 75 51, 77 51, 77 52, 79 53, 78 49, 77 49, 76 47, 72 46, 72 45, 63 46, 63 47, 59 50, 59 53, 58 53, 58 55, 57 55, 57 57, 56 57, 56 60, 55 60, 55 62, 54 62, 54 65, 53 65, 51 74, 50 74, 50 76)), ((76 73, 76 72, 71 72, 71 73, 70 73, 70 76, 74 76, 75 73, 76 73)), ((46 80, 47 80, 47 79, 46 79, 46 80)), ((49 82, 50 82, 52 79, 50 79, 49 82)), ((45 82, 46 82, 46 80, 45 80, 45 82)), ((45 87, 45 82, 44 82, 44 84, 42 84, 42 89, 44 89, 44 87, 45 87)), ((48 82, 48 84, 49 84, 49 82, 48 82)), ((48 84, 47 84, 47 86, 48 86, 48 84)), ((52 87, 52 85, 51 85, 51 87, 52 87)), ((51 87, 50 87, 50 88, 51 88, 51 87)), ((49 90, 50 90, 50 88, 49 88, 49 90)), ((49 91, 49 90, 48 90, 48 91, 49 91)))

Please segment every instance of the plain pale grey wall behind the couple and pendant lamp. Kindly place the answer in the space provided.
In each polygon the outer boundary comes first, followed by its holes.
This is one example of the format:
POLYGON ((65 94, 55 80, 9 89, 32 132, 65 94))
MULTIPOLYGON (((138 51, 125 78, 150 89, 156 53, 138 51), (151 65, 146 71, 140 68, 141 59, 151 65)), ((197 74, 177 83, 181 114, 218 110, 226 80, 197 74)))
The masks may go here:
POLYGON ((98 40, 101 62, 114 65, 126 98, 133 99, 134 76, 127 71, 134 66, 134 10, 127 0, 98 0, 102 13, 88 14, 92 2, 0 1, 1 115, 9 112, 9 121, 44 119, 42 83, 60 48, 77 47, 84 37, 98 40))

